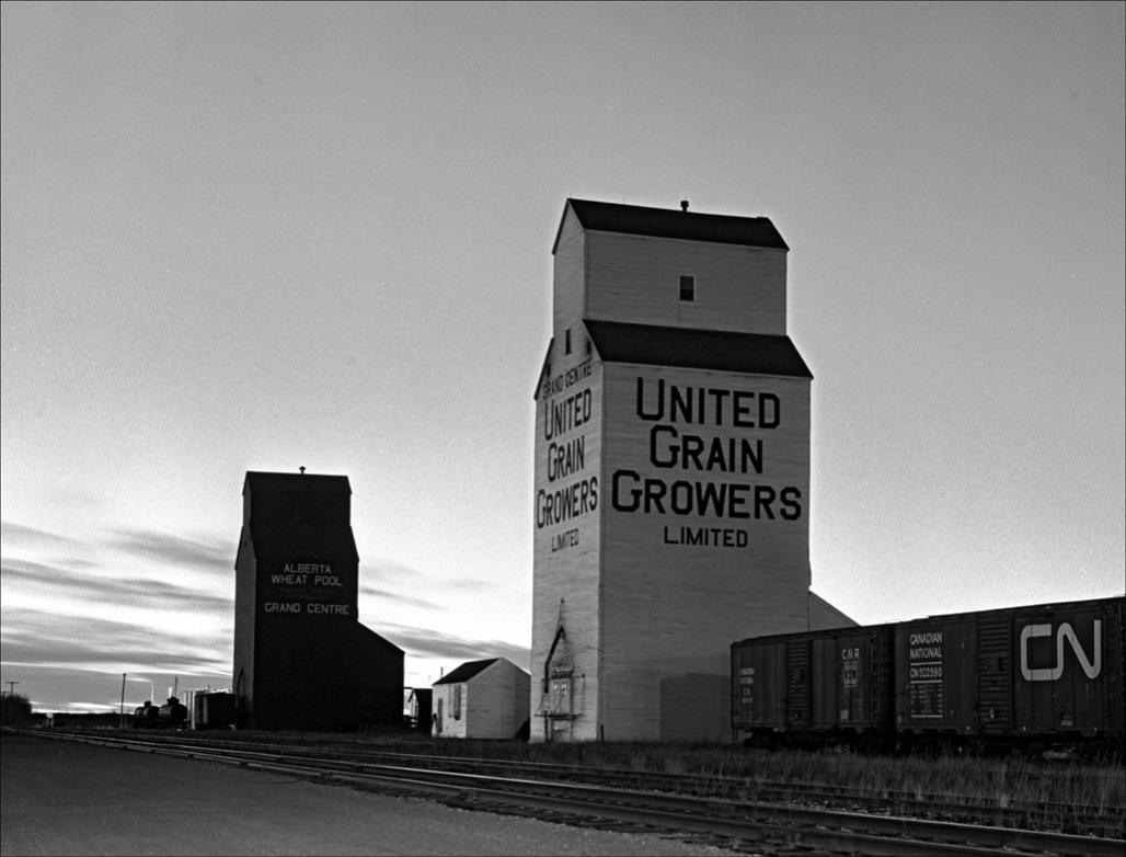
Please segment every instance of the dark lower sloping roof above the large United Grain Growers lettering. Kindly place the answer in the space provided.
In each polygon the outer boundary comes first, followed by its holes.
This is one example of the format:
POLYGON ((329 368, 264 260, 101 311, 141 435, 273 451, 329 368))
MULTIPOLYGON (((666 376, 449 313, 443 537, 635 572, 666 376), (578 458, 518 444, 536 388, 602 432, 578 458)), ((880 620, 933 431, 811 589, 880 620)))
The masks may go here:
POLYGON ((812 378, 802 355, 785 336, 739 333, 583 319, 604 363, 677 366, 812 378))

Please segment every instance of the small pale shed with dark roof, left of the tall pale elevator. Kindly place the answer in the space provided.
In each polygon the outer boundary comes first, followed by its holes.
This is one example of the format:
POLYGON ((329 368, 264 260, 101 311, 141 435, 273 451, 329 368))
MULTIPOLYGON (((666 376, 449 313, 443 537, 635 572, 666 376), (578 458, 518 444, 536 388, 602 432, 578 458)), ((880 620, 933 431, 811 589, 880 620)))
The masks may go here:
POLYGON ((531 711, 531 677, 507 658, 467 661, 432 688, 438 738, 517 738, 531 711))

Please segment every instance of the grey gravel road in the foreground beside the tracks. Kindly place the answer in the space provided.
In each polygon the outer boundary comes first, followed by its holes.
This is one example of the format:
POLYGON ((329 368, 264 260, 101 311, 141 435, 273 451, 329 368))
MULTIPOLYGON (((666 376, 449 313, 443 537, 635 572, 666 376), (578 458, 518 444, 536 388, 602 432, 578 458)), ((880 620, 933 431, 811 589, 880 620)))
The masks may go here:
POLYGON ((38 738, 3 735, 0 775, 5 857, 734 854, 38 738))

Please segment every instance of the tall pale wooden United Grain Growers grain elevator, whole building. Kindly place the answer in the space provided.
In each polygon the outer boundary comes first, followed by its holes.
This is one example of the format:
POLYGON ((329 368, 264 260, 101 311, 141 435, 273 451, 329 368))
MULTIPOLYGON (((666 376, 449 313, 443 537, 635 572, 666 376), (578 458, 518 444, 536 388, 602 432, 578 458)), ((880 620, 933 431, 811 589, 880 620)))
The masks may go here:
POLYGON ((533 741, 730 740, 810 591, 810 391, 766 217, 568 199, 536 387, 533 741))

